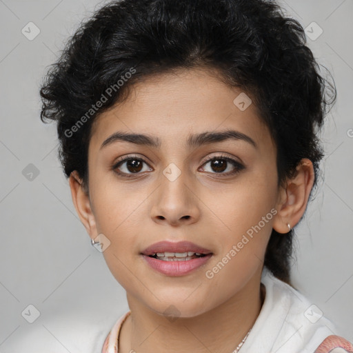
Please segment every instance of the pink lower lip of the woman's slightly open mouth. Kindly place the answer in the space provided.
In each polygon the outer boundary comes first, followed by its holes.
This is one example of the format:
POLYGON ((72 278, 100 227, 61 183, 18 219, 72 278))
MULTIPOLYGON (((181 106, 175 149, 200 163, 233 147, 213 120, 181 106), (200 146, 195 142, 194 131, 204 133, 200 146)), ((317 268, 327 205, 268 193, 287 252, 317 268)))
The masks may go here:
POLYGON ((206 263, 211 258, 212 254, 186 261, 163 261, 143 254, 142 256, 145 261, 147 261, 148 265, 158 272, 168 274, 168 276, 183 276, 206 263))

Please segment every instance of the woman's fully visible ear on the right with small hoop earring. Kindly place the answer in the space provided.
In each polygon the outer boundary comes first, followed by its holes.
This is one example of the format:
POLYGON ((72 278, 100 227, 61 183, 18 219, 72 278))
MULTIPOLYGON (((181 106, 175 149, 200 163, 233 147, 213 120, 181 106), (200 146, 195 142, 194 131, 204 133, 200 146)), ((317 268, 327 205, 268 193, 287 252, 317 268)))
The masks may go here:
POLYGON ((303 216, 307 201, 314 185, 314 167, 310 159, 302 159, 296 167, 296 174, 287 181, 285 188, 281 188, 279 203, 276 205, 278 213, 274 217, 272 228, 279 233, 288 233, 288 223, 292 229, 303 216))

